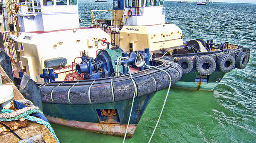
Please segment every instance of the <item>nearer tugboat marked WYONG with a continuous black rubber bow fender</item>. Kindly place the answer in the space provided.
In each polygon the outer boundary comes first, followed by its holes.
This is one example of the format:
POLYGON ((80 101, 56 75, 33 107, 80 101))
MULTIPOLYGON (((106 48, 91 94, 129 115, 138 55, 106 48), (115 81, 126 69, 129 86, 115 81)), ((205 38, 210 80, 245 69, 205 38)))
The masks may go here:
POLYGON ((132 137, 155 92, 182 77, 181 66, 152 58, 148 48, 111 48, 105 31, 79 27, 77 0, 44 2, 19 3, 12 23, 22 33, 5 37, 15 37, 9 40, 17 51, 9 55, 16 84, 24 89, 28 80, 38 83, 50 122, 132 137))

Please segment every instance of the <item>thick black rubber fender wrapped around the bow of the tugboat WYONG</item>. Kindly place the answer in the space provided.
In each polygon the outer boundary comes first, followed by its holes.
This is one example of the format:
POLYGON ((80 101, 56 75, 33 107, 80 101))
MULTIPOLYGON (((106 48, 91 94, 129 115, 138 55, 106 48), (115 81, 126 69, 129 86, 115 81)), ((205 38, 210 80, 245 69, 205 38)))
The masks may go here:
MULTIPOLYGON (((174 61, 166 60, 165 64, 158 66, 158 68, 165 70, 165 72, 150 68, 132 73, 137 88, 137 97, 168 88, 170 84, 168 74, 171 76, 171 85, 177 83, 182 77, 182 68, 174 61)), ((80 80, 79 83, 77 81, 57 81, 41 84, 39 88, 41 89, 43 103, 56 104, 111 103, 132 99, 135 90, 129 74, 120 77, 95 79, 94 82, 93 80, 80 80)))

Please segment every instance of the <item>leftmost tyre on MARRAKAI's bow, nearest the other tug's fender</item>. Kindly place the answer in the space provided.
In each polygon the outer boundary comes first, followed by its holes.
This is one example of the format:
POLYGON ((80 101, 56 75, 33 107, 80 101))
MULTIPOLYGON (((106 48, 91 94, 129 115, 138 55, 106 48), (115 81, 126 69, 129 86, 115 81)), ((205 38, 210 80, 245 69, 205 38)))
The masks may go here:
POLYGON ((177 63, 181 66, 183 74, 191 72, 194 66, 193 60, 189 57, 180 57, 177 63))

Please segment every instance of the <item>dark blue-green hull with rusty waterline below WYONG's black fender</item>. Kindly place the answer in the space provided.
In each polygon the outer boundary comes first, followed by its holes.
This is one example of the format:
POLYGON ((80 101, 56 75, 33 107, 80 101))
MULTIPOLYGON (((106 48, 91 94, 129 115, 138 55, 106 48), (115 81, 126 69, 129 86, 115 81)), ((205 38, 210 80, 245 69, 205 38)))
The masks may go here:
MULTIPOLYGON (((153 94, 136 97, 132 108, 127 137, 132 137, 142 114, 153 94)), ((52 123, 82 129, 89 132, 124 136, 132 99, 113 103, 69 105, 43 103, 44 114, 52 123), (102 109, 116 109, 116 115, 104 116, 102 109)))

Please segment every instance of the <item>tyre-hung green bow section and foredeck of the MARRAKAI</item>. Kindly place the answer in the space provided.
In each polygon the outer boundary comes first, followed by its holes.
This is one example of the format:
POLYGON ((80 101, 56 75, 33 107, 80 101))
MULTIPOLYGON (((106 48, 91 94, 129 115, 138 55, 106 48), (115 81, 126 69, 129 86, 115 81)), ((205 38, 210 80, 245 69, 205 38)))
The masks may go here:
POLYGON ((173 60, 182 67, 182 78, 174 86, 185 89, 214 90, 227 72, 244 69, 250 49, 228 42, 191 40, 175 49, 163 49, 163 59, 173 60), (168 55, 168 56, 166 56, 168 55))

